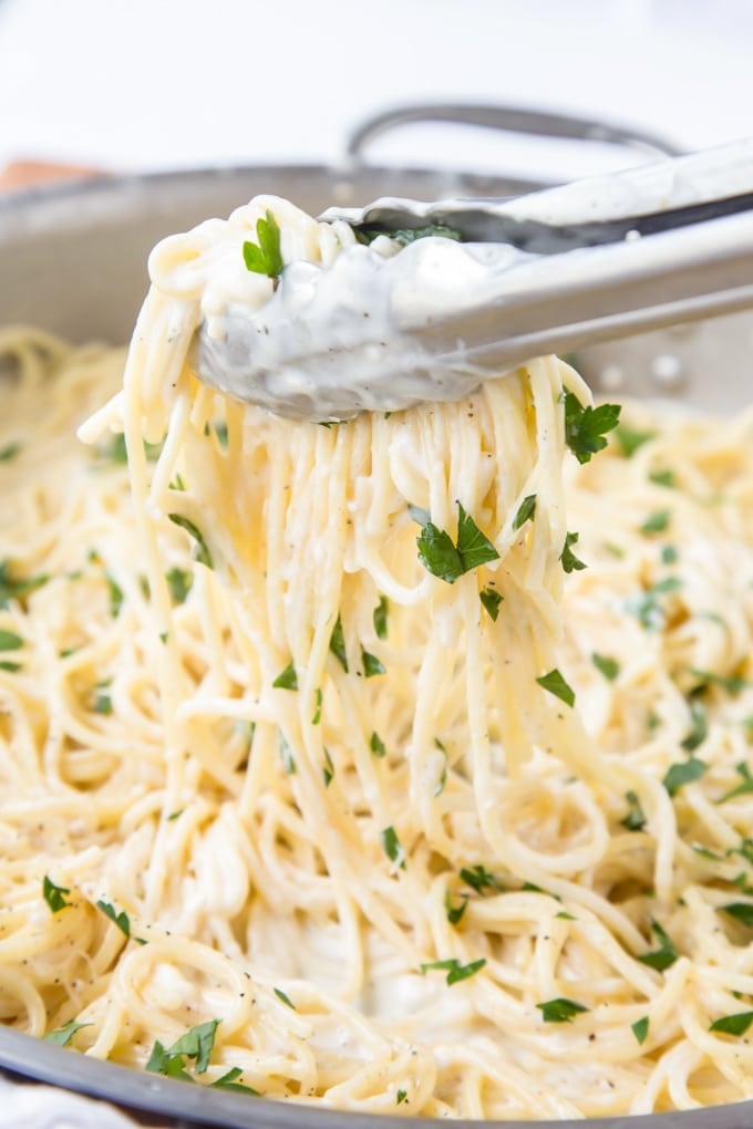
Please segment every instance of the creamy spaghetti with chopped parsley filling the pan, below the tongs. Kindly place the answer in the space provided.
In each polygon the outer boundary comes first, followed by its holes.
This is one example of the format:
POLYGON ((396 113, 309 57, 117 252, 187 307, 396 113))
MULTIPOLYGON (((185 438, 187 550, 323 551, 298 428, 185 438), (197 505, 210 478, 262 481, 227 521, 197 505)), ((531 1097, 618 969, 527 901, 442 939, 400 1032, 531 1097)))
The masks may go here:
POLYGON ((0 340, 3 1022, 383 1113, 753 1096, 753 419, 580 465, 550 359, 294 422, 184 300, 129 465, 122 353, 0 340))

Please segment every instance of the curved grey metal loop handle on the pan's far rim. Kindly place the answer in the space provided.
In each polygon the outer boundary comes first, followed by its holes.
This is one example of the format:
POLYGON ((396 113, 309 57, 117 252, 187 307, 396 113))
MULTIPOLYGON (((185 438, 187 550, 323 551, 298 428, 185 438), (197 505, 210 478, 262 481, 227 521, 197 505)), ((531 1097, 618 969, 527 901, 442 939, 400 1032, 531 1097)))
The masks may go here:
POLYGON ((602 145, 638 149, 651 156, 677 157, 684 150, 666 138, 632 126, 602 122, 571 114, 524 110, 518 106, 498 106, 473 103, 438 103, 395 106, 368 117, 350 134, 347 157, 351 165, 366 165, 365 152, 376 138, 403 125, 421 122, 447 122, 480 125, 507 133, 526 133, 534 137, 564 138, 573 141, 595 141, 602 145))

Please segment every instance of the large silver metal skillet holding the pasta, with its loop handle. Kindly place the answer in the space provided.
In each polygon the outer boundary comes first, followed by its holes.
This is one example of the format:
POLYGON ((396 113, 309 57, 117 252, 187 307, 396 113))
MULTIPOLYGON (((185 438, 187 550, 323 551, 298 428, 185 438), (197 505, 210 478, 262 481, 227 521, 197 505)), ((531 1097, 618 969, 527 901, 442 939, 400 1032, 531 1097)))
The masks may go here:
MULTIPOLYGON (((227 216, 259 193, 273 192, 318 215, 378 196, 438 200, 516 195, 541 184, 502 176, 391 169, 365 163, 378 134, 414 121, 440 120, 549 137, 638 147, 649 156, 673 146, 598 122, 493 106, 403 107, 380 114, 353 134, 339 168, 257 166, 155 176, 110 177, 37 189, 0 199, 0 325, 41 325, 73 340, 128 341, 147 287, 146 260, 163 236, 208 216, 227 216)), ((627 161, 625 161, 627 163, 627 161)), ((553 177, 553 181, 557 177, 553 177)), ((578 355, 595 392, 650 395, 717 412, 750 401, 753 314, 663 329, 578 355)), ((19 1076, 103 1097, 145 1123, 213 1124, 227 1129, 404 1129, 404 1118, 340 1113, 222 1093, 99 1062, 0 1027, 0 1067, 19 1076), (168 1120, 163 1120, 167 1118, 168 1120)), ((421 1120, 426 1129, 444 1122, 421 1120)), ((455 1122, 478 1129, 479 1122, 455 1122)), ((524 1129, 522 1122, 489 1122, 524 1129)), ((536 1122, 539 1129, 579 1129, 583 1121, 536 1122)), ((753 1101, 683 1113, 598 1118, 588 1129, 750 1129, 753 1101)), ((531 1122, 525 1122, 526 1127, 531 1122)))

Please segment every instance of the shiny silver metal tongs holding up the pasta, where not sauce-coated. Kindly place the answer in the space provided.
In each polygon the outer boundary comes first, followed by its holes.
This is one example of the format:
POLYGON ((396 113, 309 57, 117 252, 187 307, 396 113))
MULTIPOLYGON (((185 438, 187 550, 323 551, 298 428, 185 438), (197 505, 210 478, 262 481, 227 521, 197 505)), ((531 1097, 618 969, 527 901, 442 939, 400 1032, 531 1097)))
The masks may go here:
MULTIPOLYGON (((401 324, 401 334, 450 374, 438 399, 448 399, 454 366, 499 374, 531 357, 753 306, 753 139, 514 199, 383 199, 364 209, 330 209, 321 219, 345 220, 369 238, 448 228, 463 242, 520 253, 478 295, 465 295, 459 309, 401 324)), ((283 273, 281 290, 284 285, 283 273)), ((316 340, 318 359, 326 352, 329 369, 344 370, 347 339, 333 336, 326 350, 321 334, 316 340)), ((208 383, 274 408, 269 357, 266 367, 255 360, 243 323, 230 327, 225 344, 210 345, 200 332, 195 362, 208 383)), ((303 355, 284 359, 299 369, 306 362, 303 355)), ((335 387, 331 417, 339 395, 335 387)), ((341 406, 343 417, 352 414, 352 397, 343 394, 341 406)), ((322 418, 306 396, 280 410, 322 418)))

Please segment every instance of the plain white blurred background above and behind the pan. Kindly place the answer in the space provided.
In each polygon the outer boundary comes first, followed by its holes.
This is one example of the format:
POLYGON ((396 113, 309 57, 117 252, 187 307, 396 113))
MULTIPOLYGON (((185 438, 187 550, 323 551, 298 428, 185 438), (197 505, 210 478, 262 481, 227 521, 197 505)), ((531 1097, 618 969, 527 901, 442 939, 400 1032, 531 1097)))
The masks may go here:
MULTIPOLYGON (((753 133, 750 0, 0 0, 0 167, 336 163, 404 103, 505 103, 681 148, 753 133)), ((386 164, 539 180, 622 152, 401 129, 386 164)))

